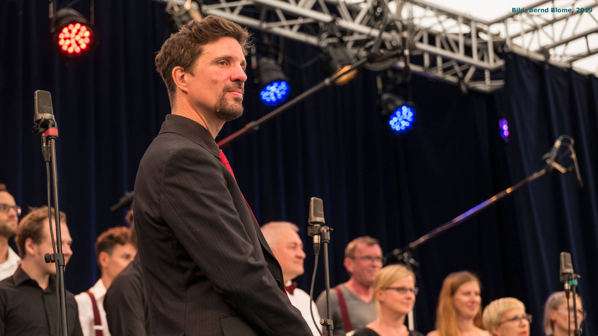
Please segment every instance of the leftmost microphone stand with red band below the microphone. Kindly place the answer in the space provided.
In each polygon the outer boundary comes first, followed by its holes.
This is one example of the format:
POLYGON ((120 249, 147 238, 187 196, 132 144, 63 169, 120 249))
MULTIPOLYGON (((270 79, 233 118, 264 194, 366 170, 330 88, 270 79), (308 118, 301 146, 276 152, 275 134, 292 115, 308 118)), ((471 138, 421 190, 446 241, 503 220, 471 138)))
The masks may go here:
POLYGON ((60 234, 60 210, 58 207, 58 173, 56 169, 56 139, 58 129, 56 121, 42 119, 33 126, 33 133, 41 135, 42 155, 45 161, 45 169, 48 181, 48 222, 50 222, 50 238, 52 240, 53 254, 45 253, 45 262, 54 262, 56 265, 56 297, 59 304, 59 328, 60 334, 68 336, 68 323, 66 320, 66 289, 65 289, 65 255, 62 253, 62 237, 60 234), (51 182, 51 183, 50 183, 51 182), (53 188, 51 188, 51 185, 53 188), (54 198, 54 223, 56 223, 56 242, 52 229, 52 215, 50 207, 50 195, 54 198))

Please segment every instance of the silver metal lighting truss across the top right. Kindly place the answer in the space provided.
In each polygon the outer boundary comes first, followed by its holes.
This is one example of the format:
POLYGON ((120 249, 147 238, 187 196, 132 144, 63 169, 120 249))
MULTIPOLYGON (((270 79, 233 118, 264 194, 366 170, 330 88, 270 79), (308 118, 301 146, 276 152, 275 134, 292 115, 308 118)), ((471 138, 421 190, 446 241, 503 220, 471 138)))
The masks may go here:
POLYGON ((207 1, 202 5, 204 14, 318 47, 340 38, 350 51, 361 54, 379 35, 380 17, 386 16, 392 24, 382 30, 382 49, 386 54, 400 52, 395 66, 404 68, 408 62, 412 72, 458 84, 464 91, 490 92, 504 85, 505 61, 499 57, 503 50, 562 68, 598 53, 598 35, 591 35, 598 32, 598 0, 539 1, 525 8, 549 12, 572 8, 572 12, 510 13, 492 21, 425 0, 207 1), (577 13, 576 8, 593 11, 577 13), (584 48, 579 48, 579 41, 585 41, 584 48), (570 47, 573 44, 576 48, 570 47))

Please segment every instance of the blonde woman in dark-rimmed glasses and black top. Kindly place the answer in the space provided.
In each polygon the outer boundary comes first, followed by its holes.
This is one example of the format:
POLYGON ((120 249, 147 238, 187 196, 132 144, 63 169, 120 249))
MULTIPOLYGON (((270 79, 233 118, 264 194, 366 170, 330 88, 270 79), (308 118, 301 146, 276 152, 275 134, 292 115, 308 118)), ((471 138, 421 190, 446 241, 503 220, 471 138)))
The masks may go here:
POLYGON ((372 289, 376 320, 354 336, 423 336, 405 326, 405 316, 413 309, 417 291, 415 274, 404 265, 388 265, 379 270, 372 289))

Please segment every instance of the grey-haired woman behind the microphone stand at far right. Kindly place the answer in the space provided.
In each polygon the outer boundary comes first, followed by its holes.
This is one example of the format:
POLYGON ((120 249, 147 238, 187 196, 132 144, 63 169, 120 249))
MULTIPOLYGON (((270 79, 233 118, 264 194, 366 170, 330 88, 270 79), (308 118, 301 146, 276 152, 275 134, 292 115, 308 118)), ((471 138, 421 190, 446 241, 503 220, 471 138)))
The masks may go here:
MULTIPOLYGON (((575 305, 577 308, 577 324, 581 328, 581 322, 585 319, 585 310, 581 297, 576 296, 575 305)), ((575 330, 575 315, 573 314, 573 294, 569 294, 569 308, 565 292, 554 292, 550 294, 544 304, 544 334, 547 336, 573 336, 575 330), (567 323, 569 321, 569 323, 567 323), (570 331, 569 331, 570 328, 570 331)))

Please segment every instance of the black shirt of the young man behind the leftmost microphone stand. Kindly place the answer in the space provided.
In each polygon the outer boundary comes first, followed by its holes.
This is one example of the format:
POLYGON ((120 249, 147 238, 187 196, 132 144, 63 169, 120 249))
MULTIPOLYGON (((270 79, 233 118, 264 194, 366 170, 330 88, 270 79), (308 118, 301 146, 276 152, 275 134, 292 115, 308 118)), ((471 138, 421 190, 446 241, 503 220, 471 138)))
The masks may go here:
MULTIPOLYGON (((77 301, 69 291, 66 318, 69 335, 83 336, 77 301)), ((62 334, 58 326, 56 278, 50 276, 48 287, 41 289, 19 265, 13 276, 0 282, 0 335, 56 336, 62 334)))

